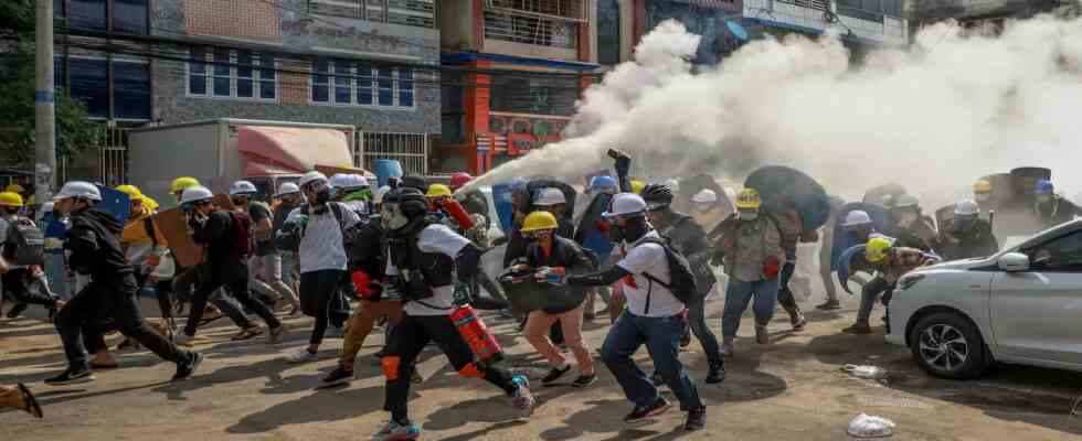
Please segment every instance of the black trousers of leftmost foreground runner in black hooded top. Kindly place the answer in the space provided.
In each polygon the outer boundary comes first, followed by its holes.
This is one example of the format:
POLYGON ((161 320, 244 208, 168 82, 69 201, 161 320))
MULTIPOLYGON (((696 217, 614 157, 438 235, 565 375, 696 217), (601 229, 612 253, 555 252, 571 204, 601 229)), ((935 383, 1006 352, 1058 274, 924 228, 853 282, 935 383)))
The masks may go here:
POLYGON ((84 336, 95 351, 102 343, 100 324, 112 318, 120 334, 139 342, 162 359, 187 362, 191 353, 172 344, 155 332, 142 319, 136 299, 135 277, 123 275, 117 280, 95 280, 75 294, 54 319, 56 331, 64 343, 64 355, 72 367, 86 367, 84 336))

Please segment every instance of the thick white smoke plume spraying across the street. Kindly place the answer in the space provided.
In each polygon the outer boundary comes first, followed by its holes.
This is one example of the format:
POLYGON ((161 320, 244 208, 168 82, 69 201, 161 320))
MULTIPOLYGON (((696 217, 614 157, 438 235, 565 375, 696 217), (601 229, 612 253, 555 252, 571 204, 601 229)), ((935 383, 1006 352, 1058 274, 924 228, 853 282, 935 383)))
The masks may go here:
POLYGON ((628 152, 646 178, 708 172, 742 180, 783 164, 847 198, 899 182, 953 202, 978 178, 1048 166, 1069 195, 1082 184, 1082 20, 1040 17, 998 37, 952 23, 855 65, 835 35, 757 40, 713 68, 686 61, 699 36, 658 25, 635 61, 586 90, 565 139, 473 185, 555 175, 580 181, 628 152))

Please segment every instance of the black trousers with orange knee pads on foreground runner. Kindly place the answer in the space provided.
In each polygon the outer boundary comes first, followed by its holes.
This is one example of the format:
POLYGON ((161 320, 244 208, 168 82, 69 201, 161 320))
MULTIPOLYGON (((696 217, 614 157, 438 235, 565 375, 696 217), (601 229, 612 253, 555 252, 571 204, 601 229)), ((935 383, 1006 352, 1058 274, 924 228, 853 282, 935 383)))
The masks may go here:
POLYGON ((391 331, 383 352, 383 374, 386 376, 386 397, 383 410, 391 418, 402 421, 409 418, 406 402, 410 399, 410 378, 416 368, 417 355, 429 341, 436 342, 450 365, 465 377, 484 378, 511 395, 518 387, 511 373, 501 365, 481 366, 474 363, 474 352, 446 315, 402 314, 402 321, 391 331))

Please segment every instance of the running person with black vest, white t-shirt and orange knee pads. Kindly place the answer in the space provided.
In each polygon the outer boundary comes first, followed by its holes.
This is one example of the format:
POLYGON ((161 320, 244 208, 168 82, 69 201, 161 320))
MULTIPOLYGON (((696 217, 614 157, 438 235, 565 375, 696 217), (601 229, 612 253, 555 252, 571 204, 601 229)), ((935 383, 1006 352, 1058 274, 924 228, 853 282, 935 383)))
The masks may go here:
POLYGON ((480 363, 463 340, 449 315, 454 308, 454 280, 477 272, 481 252, 468 239, 428 217, 424 193, 399 187, 384 196, 390 248, 388 275, 402 293, 402 321, 394 326, 382 359, 386 377, 383 409, 391 412, 373 440, 416 439, 421 429, 410 420, 411 377, 416 358, 431 341, 450 365, 467 378, 484 378, 503 390, 523 415, 533 412, 529 380, 512 376, 501 363, 480 363))

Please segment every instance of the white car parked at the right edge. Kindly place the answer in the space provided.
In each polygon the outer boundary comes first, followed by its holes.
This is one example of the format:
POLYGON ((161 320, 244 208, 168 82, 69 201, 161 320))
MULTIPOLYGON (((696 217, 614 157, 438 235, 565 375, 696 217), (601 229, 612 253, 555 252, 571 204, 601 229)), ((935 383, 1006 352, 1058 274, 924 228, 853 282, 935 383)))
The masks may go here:
POLYGON ((1082 219, 905 275, 887 341, 944 378, 975 378, 994 362, 1082 370, 1082 219))

